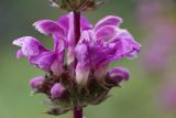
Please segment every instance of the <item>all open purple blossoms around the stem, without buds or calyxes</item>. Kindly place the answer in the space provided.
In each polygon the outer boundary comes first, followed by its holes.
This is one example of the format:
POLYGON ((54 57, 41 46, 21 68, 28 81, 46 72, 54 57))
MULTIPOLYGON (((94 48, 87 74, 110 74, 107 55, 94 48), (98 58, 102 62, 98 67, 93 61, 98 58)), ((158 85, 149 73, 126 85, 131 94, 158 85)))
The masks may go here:
POLYGON ((86 84, 90 72, 94 72, 97 79, 103 79, 110 62, 123 57, 135 57, 140 52, 141 45, 127 30, 119 28, 122 23, 121 18, 109 15, 92 28, 87 19, 81 17, 81 36, 78 44, 75 44, 73 23, 73 12, 59 18, 58 21, 35 22, 36 30, 53 36, 54 49, 48 51, 36 39, 24 36, 13 42, 22 47, 18 51, 18 57, 24 55, 31 64, 59 76, 64 69, 67 50, 67 65, 69 66, 75 58, 77 60, 76 82, 86 84))

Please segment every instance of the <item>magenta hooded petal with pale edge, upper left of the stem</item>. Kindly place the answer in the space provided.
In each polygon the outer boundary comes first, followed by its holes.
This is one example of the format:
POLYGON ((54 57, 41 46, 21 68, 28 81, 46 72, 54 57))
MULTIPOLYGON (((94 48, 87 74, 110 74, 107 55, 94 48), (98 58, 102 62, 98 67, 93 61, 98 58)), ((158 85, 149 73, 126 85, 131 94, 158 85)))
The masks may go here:
POLYGON ((52 20, 41 20, 35 22, 33 25, 37 31, 46 35, 65 35, 64 29, 57 22, 54 22, 52 20))

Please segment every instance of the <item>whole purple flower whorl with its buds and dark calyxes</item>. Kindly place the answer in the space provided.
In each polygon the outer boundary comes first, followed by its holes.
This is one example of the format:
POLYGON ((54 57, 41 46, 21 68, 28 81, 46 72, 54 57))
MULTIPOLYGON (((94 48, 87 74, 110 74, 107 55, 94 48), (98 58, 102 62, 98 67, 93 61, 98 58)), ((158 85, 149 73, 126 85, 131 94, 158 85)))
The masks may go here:
POLYGON ((30 85, 56 106, 48 111, 52 115, 64 114, 74 106, 103 101, 112 87, 129 79, 127 69, 108 69, 109 64, 124 57, 133 58, 141 49, 127 30, 119 28, 122 19, 114 15, 103 18, 95 26, 81 17, 80 39, 76 42, 73 18, 70 12, 57 21, 34 23, 37 31, 53 37, 52 51, 32 36, 13 41, 21 47, 18 58, 25 56, 32 65, 46 72, 46 76, 31 79, 30 85))

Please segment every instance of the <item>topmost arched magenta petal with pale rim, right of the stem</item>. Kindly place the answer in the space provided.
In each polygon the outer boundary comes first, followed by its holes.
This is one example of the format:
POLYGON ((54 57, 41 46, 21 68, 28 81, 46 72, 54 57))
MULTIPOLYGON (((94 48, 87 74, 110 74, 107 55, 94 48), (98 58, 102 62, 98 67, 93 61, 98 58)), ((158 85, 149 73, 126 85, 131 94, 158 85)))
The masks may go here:
POLYGON ((102 20, 100 20, 96 26, 95 30, 98 30, 101 26, 105 25, 114 25, 114 26, 119 26, 122 23, 122 19, 119 17, 114 17, 114 15, 109 15, 103 18, 102 20))

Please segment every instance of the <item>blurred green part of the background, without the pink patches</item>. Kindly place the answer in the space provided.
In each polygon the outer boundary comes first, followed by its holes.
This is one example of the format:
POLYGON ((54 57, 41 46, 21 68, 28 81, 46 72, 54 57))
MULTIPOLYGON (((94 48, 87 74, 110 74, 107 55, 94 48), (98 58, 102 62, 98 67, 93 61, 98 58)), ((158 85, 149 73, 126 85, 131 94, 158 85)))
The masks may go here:
MULTIPOLYGON (((96 23, 108 14, 120 15, 124 20, 122 28, 128 29, 143 47, 138 58, 123 60, 111 65, 128 68, 131 72, 131 79, 123 83, 121 88, 113 88, 110 93, 113 96, 103 104, 85 108, 86 118, 176 118, 175 112, 165 111, 157 105, 157 90, 165 79, 161 77, 164 76, 161 75, 163 72, 151 73, 143 62, 143 55, 151 46, 146 44, 146 32, 150 30, 143 25, 143 21, 140 21, 143 14, 139 12, 141 0, 105 1, 106 3, 99 9, 85 13, 89 21, 96 23)), ((166 10, 164 14, 166 18, 175 18, 176 4, 172 2, 174 7, 172 6, 170 10, 166 10)), ((0 0, 0 118, 54 118, 42 114, 52 107, 41 103, 44 96, 30 94, 32 89, 29 81, 44 73, 31 66, 25 58, 16 60, 18 47, 12 45, 12 41, 23 35, 33 35, 47 47, 52 47, 51 37, 36 32, 32 24, 41 19, 56 20, 62 14, 65 12, 48 7, 46 0, 0 0)), ((175 20, 173 22, 176 23, 175 20)), ((174 54, 175 51, 170 55, 174 54)), ((174 73, 172 66, 175 62, 170 61, 167 64, 168 73, 174 73)), ((58 118, 72 118, 72 112, 58 118)))

